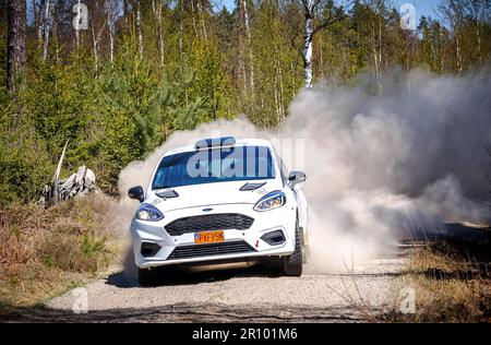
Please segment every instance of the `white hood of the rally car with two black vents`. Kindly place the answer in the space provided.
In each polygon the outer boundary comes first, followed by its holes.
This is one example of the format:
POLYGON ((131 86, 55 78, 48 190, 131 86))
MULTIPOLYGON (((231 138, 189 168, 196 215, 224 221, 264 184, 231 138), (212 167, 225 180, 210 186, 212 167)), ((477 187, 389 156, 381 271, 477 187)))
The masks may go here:
POLYGON ((263 195, 282 188, 283 183, 277 179, 203 183, 173 188, 179 194, 177 198, 165 199, 156 195, 158 191, 148 191, 145 202, 161 212, 218 204, 255 204, 263 195), (248 182, 265 185, 255 190, 241 191, 240 188, 248 182))

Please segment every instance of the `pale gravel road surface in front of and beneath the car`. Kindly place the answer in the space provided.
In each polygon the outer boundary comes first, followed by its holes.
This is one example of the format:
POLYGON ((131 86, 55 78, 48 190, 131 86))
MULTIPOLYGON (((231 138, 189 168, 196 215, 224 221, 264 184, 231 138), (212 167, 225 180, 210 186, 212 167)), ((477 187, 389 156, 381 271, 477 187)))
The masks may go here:
POLYGON ((88 312, 75 314, 69 292, 31 312, 35 321, 96 322, 363 322, 391 302, 391 283, 407 260, 397 247, 352 272, 276 276, 262 265, 172 272, 139 287, 115 270, 86 286, 88 312))

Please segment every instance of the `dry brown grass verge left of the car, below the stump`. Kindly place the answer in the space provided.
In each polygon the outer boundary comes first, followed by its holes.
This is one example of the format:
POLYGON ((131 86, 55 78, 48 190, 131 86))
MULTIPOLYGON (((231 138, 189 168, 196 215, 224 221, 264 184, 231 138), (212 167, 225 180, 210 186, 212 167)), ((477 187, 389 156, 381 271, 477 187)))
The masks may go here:
POLYGON ((111 203, 93 195, 0 210, 0 308, 36 305, 105 270, 118 251, 103 222, 111 203))

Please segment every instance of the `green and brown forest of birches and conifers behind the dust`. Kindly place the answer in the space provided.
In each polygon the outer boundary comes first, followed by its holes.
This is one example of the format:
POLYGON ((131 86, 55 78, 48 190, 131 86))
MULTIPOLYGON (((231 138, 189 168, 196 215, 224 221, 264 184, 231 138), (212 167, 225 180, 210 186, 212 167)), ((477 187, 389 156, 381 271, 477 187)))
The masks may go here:
POLYGON ((303 87, 489 69, 489 0, 417 24, 384 0, 0 0, 0 206, 39 199, 67 142, 63 172, 86 165, 116 194, 172 132, 240 114, 276 128, 303 87))

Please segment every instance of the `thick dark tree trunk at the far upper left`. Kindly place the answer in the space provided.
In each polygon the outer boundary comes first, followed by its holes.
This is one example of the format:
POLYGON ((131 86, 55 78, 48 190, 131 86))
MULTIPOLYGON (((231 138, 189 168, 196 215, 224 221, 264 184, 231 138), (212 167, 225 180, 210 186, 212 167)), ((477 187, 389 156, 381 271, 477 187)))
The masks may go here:
POLYGON ((25 0, 8 1, 7 88, 9 91, 17 90, 25 82, 25 0))

